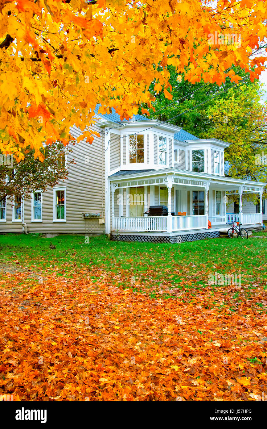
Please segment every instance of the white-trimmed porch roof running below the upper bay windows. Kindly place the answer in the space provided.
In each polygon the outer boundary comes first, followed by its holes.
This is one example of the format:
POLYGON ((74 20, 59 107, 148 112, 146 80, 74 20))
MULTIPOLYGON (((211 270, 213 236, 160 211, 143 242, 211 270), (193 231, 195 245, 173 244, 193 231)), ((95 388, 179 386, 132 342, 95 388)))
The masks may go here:
POLYGON ((207 173, 196 173, 177 168, 165 168, 156 170, 121 170, 109 176, 111 183, 116 187, 135 187, 144 185, 166 184, 167 177, 172 175, 174 184, 186 186, 214 187, 228 190, 237 190, 243 187, 243 192, 260 192, 267 185, 266 182, 255 182, 231 177, 218 176, 207 173))

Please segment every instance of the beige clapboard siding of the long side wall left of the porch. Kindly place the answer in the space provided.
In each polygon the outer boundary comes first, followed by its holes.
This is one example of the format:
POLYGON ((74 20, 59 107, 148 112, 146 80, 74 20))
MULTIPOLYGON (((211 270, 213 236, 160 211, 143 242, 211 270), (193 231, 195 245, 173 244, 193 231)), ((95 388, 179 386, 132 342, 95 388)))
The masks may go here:
MULTIPOLYGON (((101 128, 95 124, 93 130, 100 133, 101 128)), ((77 127, 70 130, 77 138, 81 131, 77 127)), ((90 145, 85 141, 72 146, 69 159, 75 158, 75 164, 69 166, 68 178, 61 180, 55 187, 66 187, 66 222, 53 222, 53 189, 48 189, 42 196, 42 222, 31 222, 31 198, 24 201, 24 222, 27 231, 45 233, 86 233, 105 231, 105 225, 99 219, 85 220, 83 212, 102 212, 105 215, 105 182, 104 182, 104 136, 96 137, 90 145), (87 158, 89 157, 89 158, 87 158), (89 159, 89 162, 87 162, 89 159), (104 184, 104 187, 103 187, 104 184)), ((21 232, 21 222, 12 222, 10 203, 6 210, 7 221, 0 224, 0 231, 21 232)))

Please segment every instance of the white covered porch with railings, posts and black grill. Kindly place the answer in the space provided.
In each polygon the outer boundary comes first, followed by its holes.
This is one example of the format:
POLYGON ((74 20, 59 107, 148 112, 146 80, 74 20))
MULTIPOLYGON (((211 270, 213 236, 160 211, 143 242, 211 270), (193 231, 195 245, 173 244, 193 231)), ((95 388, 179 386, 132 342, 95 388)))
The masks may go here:
MULTIPOLYGON (((192 172, 181 174, 173 169, 153 170, 142 175, 138 178, 134 174, 110 178, 111 234, 173 235, 219 230, 234 221, 232 215, 226 214, 227 195, 249 192, 246 186, 233 183, 228 178, 224 180, 224 177, 194 177, 192 172), (150 205, 167 206, 168 215, 147 215, 150 205)), ((251 192, 262 191, 262 187, 257 190, 256 187, 251 188, 251 192)), ((243 214, 241 211, 238 220, 246 225, 260 224, 262 212, 243 214)))

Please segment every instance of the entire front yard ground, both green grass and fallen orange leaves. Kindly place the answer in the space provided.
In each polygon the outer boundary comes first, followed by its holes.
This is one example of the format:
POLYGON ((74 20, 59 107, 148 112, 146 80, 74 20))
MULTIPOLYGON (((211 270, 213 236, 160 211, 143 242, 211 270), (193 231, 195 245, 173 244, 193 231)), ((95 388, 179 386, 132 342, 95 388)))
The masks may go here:
POLYGON ((1 236, 0 394, 267 399, 264 240, 1 236), (214 272, 241 273, 241 284, 208 285, 214 272))

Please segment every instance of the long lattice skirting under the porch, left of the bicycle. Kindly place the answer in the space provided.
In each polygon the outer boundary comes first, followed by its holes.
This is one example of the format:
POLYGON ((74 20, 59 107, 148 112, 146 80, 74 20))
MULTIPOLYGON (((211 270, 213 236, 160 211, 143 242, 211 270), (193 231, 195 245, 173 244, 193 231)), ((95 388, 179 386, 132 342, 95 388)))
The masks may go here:
POLYGON ((132 242, 151 242, 151 243, 184 243, 188 241, 197 241, 204 239, 212 239, 219 237, 219 231, 210 231, 208 233, 184 234, 181 236, 134 236, 134 235, 120 235, 112 234, 111 240, 113 241, 132 241, 132 242))

